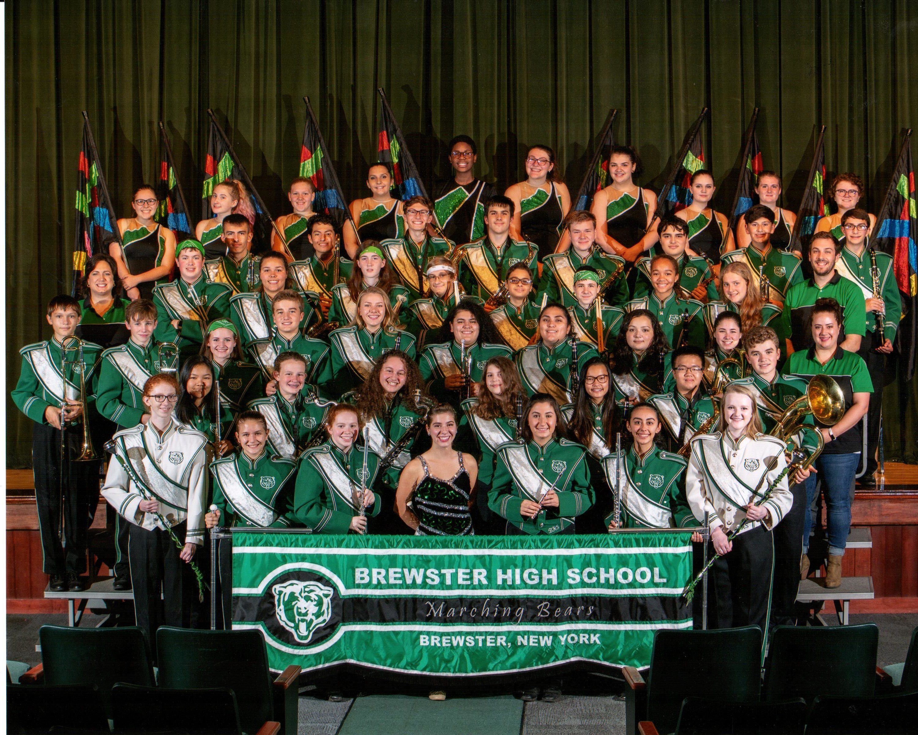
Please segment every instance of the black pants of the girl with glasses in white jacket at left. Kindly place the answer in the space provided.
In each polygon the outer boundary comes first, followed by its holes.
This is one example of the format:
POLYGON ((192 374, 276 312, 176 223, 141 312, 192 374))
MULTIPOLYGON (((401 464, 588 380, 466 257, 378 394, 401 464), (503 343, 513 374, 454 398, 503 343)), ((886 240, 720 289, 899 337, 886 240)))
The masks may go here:
MULTIPOLYGON (((185 522, 173 526, 179 541, 185 539, 185 522)), ((160 626, 188 628, 192 600, 197 600, 195 574, 179 557, 181 549, 167 531, 148 531, 130 525, 130 577, 134 587, 134 616, 156 650, 160 626), (162 599, 160 594, 162 593, 162 599)))

